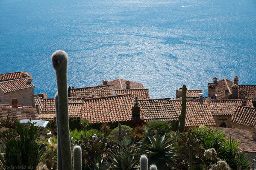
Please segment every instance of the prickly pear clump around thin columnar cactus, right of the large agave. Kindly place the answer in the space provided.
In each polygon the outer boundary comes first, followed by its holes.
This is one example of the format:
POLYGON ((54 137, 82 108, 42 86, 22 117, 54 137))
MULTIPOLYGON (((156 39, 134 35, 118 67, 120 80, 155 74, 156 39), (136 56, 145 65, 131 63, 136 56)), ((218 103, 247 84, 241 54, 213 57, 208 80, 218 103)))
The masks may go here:
POLYGON ((189 154, 189 146, 193 147, 193 162, 194 164, 203 164, 202 157, 204 154, 203 144, 200 139, 198 139, 194 132, 189 130, 187 133, 179 133, 179 155, 180 159, 178 159, 178 163, 182 167, 183 170, 188 170, 190 154, 189 154))

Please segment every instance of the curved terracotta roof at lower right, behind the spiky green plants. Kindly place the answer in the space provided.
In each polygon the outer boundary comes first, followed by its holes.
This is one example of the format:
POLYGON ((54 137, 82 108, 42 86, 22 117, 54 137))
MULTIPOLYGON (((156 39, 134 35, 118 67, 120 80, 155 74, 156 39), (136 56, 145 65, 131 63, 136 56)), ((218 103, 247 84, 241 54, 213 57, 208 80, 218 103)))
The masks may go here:
POLYGON ((256 153, 256 141, 252 138, 252 133, 243 130, 243 129, 235 129, 235 128, 226 128, 226 127, 210 127, 213 129, 218 128, 219 130, 224 131, 227 139, 236 139, 238 142, 241 142, 239 147, 243 152, 247 153, 256 153))

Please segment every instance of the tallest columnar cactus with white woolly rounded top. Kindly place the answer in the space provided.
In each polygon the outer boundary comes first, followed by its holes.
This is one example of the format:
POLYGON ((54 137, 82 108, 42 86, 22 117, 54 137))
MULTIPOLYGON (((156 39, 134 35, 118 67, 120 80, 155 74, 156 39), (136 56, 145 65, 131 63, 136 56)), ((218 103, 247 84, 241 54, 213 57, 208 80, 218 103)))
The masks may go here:
MULTIPOLYGON (((71 145, 68 123, 68 91, 67 91, 67 67, 68 54, 65 51, 56 51, 52 55, 53 68, 56 71, 58 102, 56 104, 58 145, 60 144, 61 160, 58 158, 58 170, 72 170, 71 145), (62 168, 62 169, 59 169, 62 168)), ((59 149, 59 147, 58 147, 59 149)), ((59 154, 58 154, 59 156, 59 154)))

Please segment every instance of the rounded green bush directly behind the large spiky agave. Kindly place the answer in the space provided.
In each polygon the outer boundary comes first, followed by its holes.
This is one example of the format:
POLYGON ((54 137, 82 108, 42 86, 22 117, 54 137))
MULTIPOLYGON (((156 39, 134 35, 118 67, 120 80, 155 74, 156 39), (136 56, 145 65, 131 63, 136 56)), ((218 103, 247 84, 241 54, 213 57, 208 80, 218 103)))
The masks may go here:
MULTIPOLYGON (((160 136, 163 136, 165 133, 168 135, 171 132, 171 124, 166 121, 152 121, 147 122, 146 125, 144 125, 144 134, 147 136, 154 136, 154 131, 157 130, 157 133, 160 136)), ((144 142, 150 142, 147 136, 144 137, 144 142)))

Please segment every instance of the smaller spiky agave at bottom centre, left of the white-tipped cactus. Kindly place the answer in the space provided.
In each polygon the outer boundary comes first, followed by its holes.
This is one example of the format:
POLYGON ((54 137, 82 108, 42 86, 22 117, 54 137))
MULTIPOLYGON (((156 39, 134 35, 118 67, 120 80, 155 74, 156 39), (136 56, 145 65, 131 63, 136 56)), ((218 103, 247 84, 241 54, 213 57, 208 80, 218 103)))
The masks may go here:
POLYGON ((107 161, 111 170, 137 170, 135 165, 139 159, 135 156, 134 147, 127 147, 127 150, 117 148, 115 153, 109 152, 109 159, 107 161))

